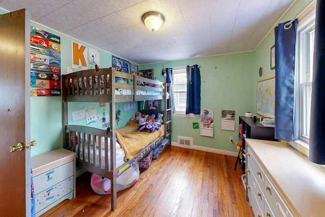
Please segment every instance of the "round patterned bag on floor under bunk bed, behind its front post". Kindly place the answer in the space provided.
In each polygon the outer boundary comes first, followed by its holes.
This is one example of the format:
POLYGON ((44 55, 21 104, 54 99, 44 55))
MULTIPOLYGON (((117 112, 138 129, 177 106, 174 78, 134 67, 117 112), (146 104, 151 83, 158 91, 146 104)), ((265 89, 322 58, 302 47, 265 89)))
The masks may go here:
MULTIPOLYGON (((140 170, 137 162, 133 167, 128 168, 116 179, 116 191, 120 192, 133 186, 139 179, 140 170)), ((111 180, 94 173, 91 174, 90 185, 92 190, 100 195, 111 194, 111 180)))

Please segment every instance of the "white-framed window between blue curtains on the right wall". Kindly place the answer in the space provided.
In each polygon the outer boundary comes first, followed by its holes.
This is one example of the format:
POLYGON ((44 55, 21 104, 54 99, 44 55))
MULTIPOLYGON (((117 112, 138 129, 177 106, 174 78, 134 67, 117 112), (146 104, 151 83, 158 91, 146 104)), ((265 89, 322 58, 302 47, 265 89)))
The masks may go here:
POLYGON ((313 77, 314 29, 315 29, 315 1, 299 16, 297 52, 296 52, 296 80, 299 115, 299 140, 289 142, 291 146, 309 156, 309 131, 311 88, 313 77))

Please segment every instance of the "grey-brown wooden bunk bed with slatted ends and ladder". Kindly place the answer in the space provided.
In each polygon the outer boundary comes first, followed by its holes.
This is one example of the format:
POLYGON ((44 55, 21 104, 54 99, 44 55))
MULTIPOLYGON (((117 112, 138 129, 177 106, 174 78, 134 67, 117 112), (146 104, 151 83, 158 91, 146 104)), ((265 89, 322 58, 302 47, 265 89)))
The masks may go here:
MULTIPOLYGON (((117 207, 116 178, 132 167, 163 139, 171 144, 171 101, 168 94, 170 84, 116 71, 114 68, 91 69, 62 75, 64 148, 76 152, 76 166, 91 173, 111 179, 111 210, 117 207), (120 82, 125 81, 125 82, 120 82), (133 83, 133 84, 130 84, 133 83), (149 84, 149 85, 148 85, 149 84), (116 129, 116 103, 161 100, 164 102, 164 121, 156 135, 140 149, 125 150, 123 132, 116 129), (70 102, 109 103, 108 129, 69 125, 70 102), (117 138, 118 137, 118 138, 117 138), (117 164, 116 149, 124 149, 124 162, 117 164), (102 153, 102 154, 99 154, 102 153)), ((140 103, 139 109, 140 109, 140 103)), ((129 126, 126 126, 129 127, 129 126)), ((141 133, 141 132, 140 132, 141 133)), ((126 133, 127 134, 127 133, 126 133)), ((120 160, 118 160, 120 162, 120 160)))

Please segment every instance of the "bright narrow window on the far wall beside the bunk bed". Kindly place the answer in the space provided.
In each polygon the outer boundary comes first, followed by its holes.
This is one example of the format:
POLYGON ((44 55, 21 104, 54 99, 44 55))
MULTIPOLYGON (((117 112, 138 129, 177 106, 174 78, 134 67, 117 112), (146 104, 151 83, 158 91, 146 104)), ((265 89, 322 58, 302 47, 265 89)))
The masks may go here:
POLYGON ((186 111, 186 67, 173 68, 175 113, 186 111))

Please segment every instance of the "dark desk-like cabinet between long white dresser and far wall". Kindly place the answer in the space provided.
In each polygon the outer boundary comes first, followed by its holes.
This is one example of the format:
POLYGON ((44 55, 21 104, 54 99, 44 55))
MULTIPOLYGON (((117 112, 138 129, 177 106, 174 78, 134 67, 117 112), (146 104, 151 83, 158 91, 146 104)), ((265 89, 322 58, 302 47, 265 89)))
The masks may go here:
POLYGON ((259 123, 257 118, 254 122, 253 118, 247 118, 245 116, 239 116, 239 129, 242 129, 240 132, 242 137, 242 147, 238 153, 235 169, 237 164, 240 163, 240 167, 245 174, 246 168, 246 142, 245 139, 262 139, 262 140, 272 140, 278 141, 274 138, 274 128, 265 127, 259 123))

